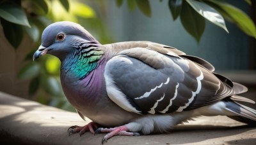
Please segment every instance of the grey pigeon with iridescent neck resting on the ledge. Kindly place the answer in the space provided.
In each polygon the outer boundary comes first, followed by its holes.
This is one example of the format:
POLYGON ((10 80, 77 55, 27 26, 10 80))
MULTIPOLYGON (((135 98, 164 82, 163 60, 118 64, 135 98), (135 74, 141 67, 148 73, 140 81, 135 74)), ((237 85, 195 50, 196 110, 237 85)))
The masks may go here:
POLYGON ((256 111, 237 94, 248 89, 199 57, 150 41, 102 45, 74 22, 55 22, 42 33, 33 60, 50 54, 61 61, 60 80, 67 100, 81 118, 69 134, 138 136, 172 131, 198 116, 223 115, 255 123, 256 111))

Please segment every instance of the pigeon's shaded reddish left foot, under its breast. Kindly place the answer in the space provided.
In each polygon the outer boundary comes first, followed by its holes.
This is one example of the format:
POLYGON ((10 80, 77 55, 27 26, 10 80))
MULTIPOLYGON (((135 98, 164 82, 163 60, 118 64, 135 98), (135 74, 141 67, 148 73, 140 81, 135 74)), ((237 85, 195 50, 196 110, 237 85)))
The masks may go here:
POLYGON ((87 125, 84 125, 83 127, 74 125, 68 128, 68 135, 76 134, 77 132, 79 132, 79 135, 81 136, 84 134, 84 132, 87 132, 87 131, 90 131, 94 134, 95 133, 94 128, 98 128, 98 125, 95 122, 90 122, 87 125))

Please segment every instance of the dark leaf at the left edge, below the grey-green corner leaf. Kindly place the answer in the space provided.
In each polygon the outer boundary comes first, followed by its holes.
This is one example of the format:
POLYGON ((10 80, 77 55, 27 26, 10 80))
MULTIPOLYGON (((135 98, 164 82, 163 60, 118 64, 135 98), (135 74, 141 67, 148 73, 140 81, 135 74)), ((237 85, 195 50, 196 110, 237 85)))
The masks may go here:
POLYGON ((5 38, 14 48, 18 48, 23 38, 21 25, 12 24, 6 20, 1 20, 1 24, 3 26, 5 38))

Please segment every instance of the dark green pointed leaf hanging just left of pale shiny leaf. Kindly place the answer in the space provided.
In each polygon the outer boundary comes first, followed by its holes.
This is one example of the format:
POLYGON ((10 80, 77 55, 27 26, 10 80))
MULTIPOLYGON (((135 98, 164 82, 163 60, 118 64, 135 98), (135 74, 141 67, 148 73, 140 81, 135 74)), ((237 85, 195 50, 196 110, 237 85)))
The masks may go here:
POLYGON ((186 31, 199 42, 205 29, 205 19, 196 13, 188 3, 183 3, 180 21, 186 31))

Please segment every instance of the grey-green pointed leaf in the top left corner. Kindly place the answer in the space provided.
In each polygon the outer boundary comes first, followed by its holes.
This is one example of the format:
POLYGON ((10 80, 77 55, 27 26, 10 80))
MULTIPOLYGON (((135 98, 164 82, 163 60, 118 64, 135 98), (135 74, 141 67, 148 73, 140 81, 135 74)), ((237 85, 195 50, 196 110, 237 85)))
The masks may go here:
POLYGON ((15 4, 0 5, 0 17, 14 24, 30 27, 26 13, 15 4))

